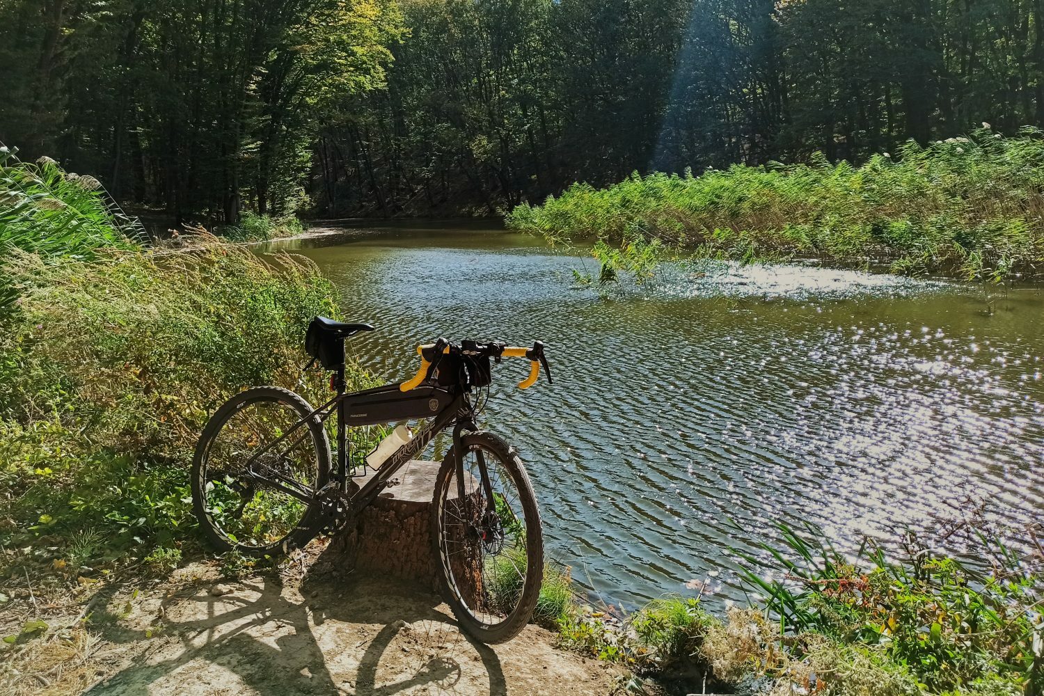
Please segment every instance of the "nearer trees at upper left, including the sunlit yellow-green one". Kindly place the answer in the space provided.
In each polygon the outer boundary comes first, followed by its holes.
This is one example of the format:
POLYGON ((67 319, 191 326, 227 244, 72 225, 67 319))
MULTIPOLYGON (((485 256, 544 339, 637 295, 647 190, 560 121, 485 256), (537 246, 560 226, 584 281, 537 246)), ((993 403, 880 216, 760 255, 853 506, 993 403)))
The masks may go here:
POLYGON ((0 134, 32 157, 104 173, 117 199, 177 223, 236 224, 244 201, 289 214, 314 138, 346 100, 383 83, 400 24, 390 0, 10 0, 0 3, 0 134))

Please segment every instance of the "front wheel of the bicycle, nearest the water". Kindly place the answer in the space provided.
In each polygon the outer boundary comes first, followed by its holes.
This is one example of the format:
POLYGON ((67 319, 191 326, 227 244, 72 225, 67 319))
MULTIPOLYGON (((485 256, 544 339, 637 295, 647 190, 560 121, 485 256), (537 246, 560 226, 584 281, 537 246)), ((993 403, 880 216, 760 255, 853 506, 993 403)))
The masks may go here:
POLYGON ((461 465, 450 450, 432 501, 443 595, 461 628, 503 643, 529 622, 540 596, 540 510, 514 448, 484 432, 461 445, 461 465))

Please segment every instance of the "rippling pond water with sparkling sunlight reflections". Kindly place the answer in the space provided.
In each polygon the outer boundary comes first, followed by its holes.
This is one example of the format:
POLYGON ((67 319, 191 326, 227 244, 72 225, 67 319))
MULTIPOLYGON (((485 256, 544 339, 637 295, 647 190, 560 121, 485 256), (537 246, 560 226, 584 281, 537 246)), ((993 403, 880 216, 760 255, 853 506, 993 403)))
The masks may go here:
POLYGON ((590 259, 460 223, 346 231, 313 259, 350 341, 388 380, 438 336, 549 346, 554 385, 497 368, 492 430, 516 445, 548 553, 610 601, 686 582, 738 597, 735 550, 777 522, 841 548, 984 499, 1044 510, 1044 292, 801 267, 663 270, 576 289, 590 259), (730 523, 735 521, 735 526, 730 523))

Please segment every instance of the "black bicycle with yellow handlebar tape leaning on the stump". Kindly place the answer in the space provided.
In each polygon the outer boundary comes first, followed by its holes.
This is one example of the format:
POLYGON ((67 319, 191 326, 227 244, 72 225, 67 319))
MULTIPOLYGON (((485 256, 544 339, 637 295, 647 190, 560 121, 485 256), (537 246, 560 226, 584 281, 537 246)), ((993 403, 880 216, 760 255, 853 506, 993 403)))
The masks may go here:
MULTIPOLYGON (((349 392, 345 341, 373 327, 315 317, 306 351, 333 373, 334 395, 318 408, 281 387, 242 391, 211 416, 192 463, 193 511, 219 551, 263 556, 303 548, 319 534, 335 534, 389 485, 397 472, 436 434, 452 428, 432 499, 432 544, 444 598, 460 626, 484 643, 500 643, 528 623, 543 578, 540 511, 516 450, 479 430, 485 405, 480 390, 492 364, 526 358, 526 389, 541 368, 551 382, 544 344, 513 347, 497 342, 438 339, 420 345, 412 379, 349 392), (336 422, 336 451, 327 423, 336 422), (362 486, 372 441, 359 429, 424 419, 411 439, 379 465, 362 486), (350 436, 348 429, 353 427, 350 436), (335 467, 331 472, 331 462, 335 467)), ((487 400, 489 392, 485 392, 487 400)))

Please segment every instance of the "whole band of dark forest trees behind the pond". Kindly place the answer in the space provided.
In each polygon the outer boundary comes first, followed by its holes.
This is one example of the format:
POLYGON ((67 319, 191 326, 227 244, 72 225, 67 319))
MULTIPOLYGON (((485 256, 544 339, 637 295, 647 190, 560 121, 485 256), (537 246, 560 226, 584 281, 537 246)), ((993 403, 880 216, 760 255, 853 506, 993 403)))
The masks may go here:
POLYGON ((173 223, 1044 125, 1044 0, 2 0, 0 141, 173 223))

